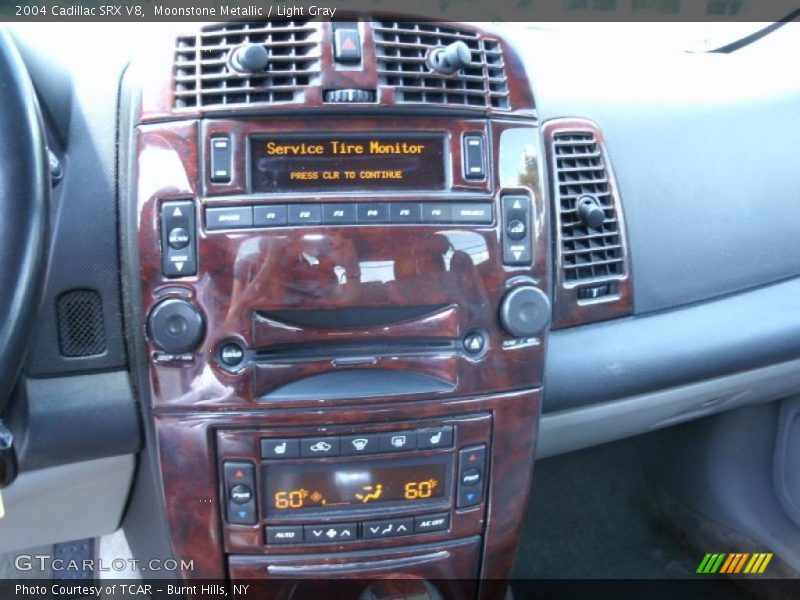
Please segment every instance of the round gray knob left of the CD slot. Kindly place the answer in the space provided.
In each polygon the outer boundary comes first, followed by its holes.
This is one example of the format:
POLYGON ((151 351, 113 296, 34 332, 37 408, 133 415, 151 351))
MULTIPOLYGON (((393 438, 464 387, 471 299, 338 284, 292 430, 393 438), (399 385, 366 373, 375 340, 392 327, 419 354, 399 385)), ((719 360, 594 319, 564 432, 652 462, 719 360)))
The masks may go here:
POLYGON ((153 345, 170 354, 191 352, 203 339, 205 324, 200 310, 188 300, 159 302, 147 318, 153 345))

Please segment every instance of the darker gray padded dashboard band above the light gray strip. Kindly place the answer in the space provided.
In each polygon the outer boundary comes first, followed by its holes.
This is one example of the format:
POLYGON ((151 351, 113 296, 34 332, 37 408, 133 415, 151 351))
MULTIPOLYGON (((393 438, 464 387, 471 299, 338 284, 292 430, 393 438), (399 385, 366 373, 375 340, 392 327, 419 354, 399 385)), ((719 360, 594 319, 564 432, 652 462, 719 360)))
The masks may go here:
POLYGON ((800 279, 554 331, 544 411, 628 398, 800 358, 800 279))

